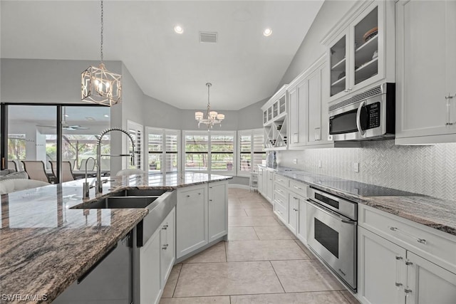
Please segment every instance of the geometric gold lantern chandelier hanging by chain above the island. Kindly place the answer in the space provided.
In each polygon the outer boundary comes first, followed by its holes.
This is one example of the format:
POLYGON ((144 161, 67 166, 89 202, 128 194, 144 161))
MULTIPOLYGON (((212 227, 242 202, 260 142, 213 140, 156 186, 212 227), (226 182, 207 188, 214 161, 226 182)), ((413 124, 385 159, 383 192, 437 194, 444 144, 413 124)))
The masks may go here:
POLYGON ((103 0, 101 0, 100 58, 98 68, 90 65, 81 74, 81 100, 99 105, 115 105, 122 101, 122 75, 106 70, 103 63, 103 0))

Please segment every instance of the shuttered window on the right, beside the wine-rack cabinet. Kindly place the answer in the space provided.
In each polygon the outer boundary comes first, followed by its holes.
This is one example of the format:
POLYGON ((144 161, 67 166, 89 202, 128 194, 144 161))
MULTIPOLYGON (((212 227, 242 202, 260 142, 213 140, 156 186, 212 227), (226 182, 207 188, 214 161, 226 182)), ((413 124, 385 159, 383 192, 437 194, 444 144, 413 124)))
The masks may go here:
POLYGON ((266 152, 263 143, 263 129, 239 131, 238 176, 249 176, 258 164, 264 164, 266 152))

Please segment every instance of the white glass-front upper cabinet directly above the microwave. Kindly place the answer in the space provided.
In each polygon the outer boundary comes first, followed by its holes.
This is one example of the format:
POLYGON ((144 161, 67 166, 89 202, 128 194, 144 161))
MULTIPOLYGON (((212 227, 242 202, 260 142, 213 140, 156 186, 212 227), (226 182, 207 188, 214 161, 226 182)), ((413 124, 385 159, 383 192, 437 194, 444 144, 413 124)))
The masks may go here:
POLYGON ((330 102, 373 83, 394 82, 394 26, 393 1, 358 1, 323 38, 330 102))

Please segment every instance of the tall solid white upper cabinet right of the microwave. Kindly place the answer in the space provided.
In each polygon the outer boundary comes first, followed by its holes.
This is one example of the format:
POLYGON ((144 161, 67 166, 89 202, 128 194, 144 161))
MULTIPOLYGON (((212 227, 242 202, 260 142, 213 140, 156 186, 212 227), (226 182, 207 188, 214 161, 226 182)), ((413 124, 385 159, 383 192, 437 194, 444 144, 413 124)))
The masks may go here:
POLYGON ((396 145, 456 142, 456 1, 396 3, 396 145))

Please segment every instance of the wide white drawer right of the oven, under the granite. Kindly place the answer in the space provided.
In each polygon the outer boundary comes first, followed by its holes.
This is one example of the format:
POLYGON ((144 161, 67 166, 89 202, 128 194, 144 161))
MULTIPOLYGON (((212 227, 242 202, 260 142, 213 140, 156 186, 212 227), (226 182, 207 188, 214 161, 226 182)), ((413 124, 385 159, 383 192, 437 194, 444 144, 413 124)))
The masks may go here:
POLYGON ((358 224, 456 273, 456 236, 362 204, 358 224))

